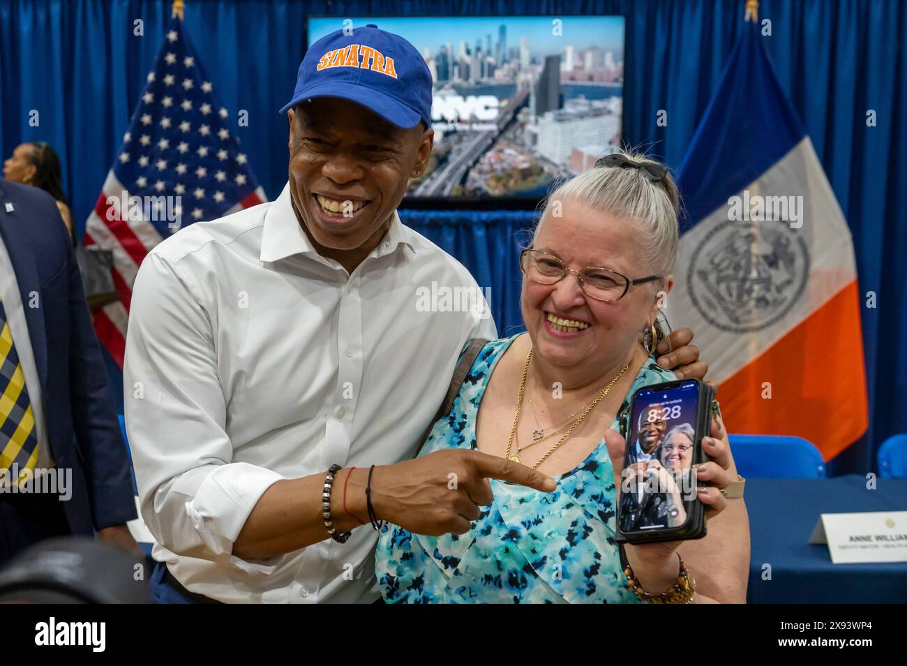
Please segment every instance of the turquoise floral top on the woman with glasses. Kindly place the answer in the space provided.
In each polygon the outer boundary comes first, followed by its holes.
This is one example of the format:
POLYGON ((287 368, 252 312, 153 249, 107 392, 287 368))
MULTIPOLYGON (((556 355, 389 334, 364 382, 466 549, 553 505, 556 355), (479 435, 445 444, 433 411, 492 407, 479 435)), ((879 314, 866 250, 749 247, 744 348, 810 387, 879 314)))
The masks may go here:
MULTIPOLYGON (((476 448, 475 420, 497 360, 512 338, 486 345, 450 414, 420 455, 476 448)), ((639 370, 621 406, 639 387, 674 375, 654 362, 639 370)), ((612 427, 617 428, 618 418, 612 427)), ((375 573, 386 602, 634 603, 614 542, 614 475, 604 439, 578 467, 555 477, 553 493, 490 479, 491 506, 466 534, 424 536, 385 524, 375 573)))

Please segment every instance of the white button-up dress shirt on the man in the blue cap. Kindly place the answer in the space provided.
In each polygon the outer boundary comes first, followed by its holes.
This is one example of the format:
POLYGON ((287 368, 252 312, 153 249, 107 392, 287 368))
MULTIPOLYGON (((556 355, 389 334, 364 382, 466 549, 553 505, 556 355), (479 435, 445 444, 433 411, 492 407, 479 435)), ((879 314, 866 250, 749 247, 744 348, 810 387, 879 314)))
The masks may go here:
POLYGON ((180 230, 142 262, 126 340, 127 432, 154 557, 190 592, 222 602, 378 597, 368 525, 346 544, 267 560, 231 552, 276 481, 414 454, 465 342, 496 337, 487 306, 426 309, 418 296, 433 282, 479 289, 396 214, 347 273, 312 247, 288 187, 180 230))

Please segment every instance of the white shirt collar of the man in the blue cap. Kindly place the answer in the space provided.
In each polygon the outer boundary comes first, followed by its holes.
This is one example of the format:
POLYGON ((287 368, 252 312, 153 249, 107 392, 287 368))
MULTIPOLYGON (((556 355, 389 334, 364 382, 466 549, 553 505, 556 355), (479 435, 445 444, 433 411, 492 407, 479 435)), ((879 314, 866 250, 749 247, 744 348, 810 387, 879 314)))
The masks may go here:
MULTIPOLYGON (((369 258, 384 257, 401 245, 406 245, 410 250, 415 251, 414 231, 405 227, 400 221, 397 211, 394 211, 394 219, 391 220, 391 225, 384 238, 368 256, 369 258)), ((261 252, 258 259, 278 261, 294 254, 317 255, 318 253, 293 211, 289 183, 287 183, 277 201, 274 201, 274 205, 265 213, 264 229, 261 233, 261 252)))

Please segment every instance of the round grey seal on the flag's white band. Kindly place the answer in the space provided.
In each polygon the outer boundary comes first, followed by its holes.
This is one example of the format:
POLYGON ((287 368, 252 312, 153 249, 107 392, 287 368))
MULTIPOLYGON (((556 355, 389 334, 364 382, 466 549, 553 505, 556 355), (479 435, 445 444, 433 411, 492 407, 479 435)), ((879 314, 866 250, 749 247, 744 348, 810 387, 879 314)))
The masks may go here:
POLYGON ((803 294, 809 276, 806 241, 785 220, 717 224, 688 264, 690 299, 727 332, 772 326, 803 294))

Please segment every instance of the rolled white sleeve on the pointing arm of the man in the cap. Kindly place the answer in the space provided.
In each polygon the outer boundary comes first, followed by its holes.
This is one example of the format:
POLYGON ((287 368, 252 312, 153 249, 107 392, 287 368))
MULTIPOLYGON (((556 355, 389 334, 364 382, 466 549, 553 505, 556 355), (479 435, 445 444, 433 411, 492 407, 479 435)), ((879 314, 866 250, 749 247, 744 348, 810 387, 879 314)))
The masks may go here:
POLYGON ((217 312, 203 302, 198 285, 180 279, 158 252, 142 262, 123 367, 141 514, 173 553, 270 573, 268 561, 231 553, 258 498, 284 477, 232 462, 213 333, 217 312))

